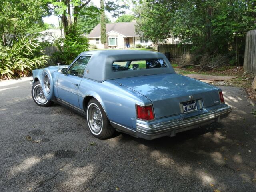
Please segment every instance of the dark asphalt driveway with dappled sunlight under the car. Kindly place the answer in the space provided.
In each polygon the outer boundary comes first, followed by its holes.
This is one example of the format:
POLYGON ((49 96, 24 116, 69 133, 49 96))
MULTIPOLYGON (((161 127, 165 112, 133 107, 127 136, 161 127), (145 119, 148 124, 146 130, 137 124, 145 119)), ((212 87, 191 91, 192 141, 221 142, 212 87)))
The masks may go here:
POLYGON ((28 80, 0 82, 0 191, 256 191, 256 103, 221 87, 221 123, 156 140, 94 138, 84 117, 37 106, 28 80))

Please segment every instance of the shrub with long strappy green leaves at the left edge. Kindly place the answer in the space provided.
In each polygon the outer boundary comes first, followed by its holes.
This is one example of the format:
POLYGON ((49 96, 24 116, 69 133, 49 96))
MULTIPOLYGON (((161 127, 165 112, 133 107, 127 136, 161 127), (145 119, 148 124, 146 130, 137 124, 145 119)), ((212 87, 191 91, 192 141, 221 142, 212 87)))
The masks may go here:
POLYGON ((0 46, 0 78, 27 76, 31 70, 44 66, 48 59, 36 37, 22 37, 12 46, 0 46))

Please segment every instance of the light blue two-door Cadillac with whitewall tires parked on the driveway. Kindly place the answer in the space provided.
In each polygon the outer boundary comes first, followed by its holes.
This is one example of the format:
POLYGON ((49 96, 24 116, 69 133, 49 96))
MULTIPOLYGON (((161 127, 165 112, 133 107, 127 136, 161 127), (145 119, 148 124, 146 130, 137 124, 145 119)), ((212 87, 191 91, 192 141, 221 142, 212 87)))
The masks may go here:
POLYGON ((93 136, 115 130, 155 139, 175 136, 231 112, 222 90, 176 74, 157 52, 102 50, 81 53, 70 66, 33 70, 32 98, 86 116, 93 136))

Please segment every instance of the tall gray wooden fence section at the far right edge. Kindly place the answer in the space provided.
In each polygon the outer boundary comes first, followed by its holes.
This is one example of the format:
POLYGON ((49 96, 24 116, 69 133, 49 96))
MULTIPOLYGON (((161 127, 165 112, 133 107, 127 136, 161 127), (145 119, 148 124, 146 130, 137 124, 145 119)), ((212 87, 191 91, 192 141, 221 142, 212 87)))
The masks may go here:
POLYGON ((256 30, 248 31, 246 34, 244 70, 256 75, 256 30))

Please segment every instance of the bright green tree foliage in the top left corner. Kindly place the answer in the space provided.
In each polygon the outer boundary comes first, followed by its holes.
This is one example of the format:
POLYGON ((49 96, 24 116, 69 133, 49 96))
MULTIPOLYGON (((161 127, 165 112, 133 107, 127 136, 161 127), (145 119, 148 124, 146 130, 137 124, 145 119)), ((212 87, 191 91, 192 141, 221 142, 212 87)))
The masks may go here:
POLYGON ((11 45, 17 36, 43 27, 42 17, 49 12, 41 0, 0 0, 1 44, 11 45))

